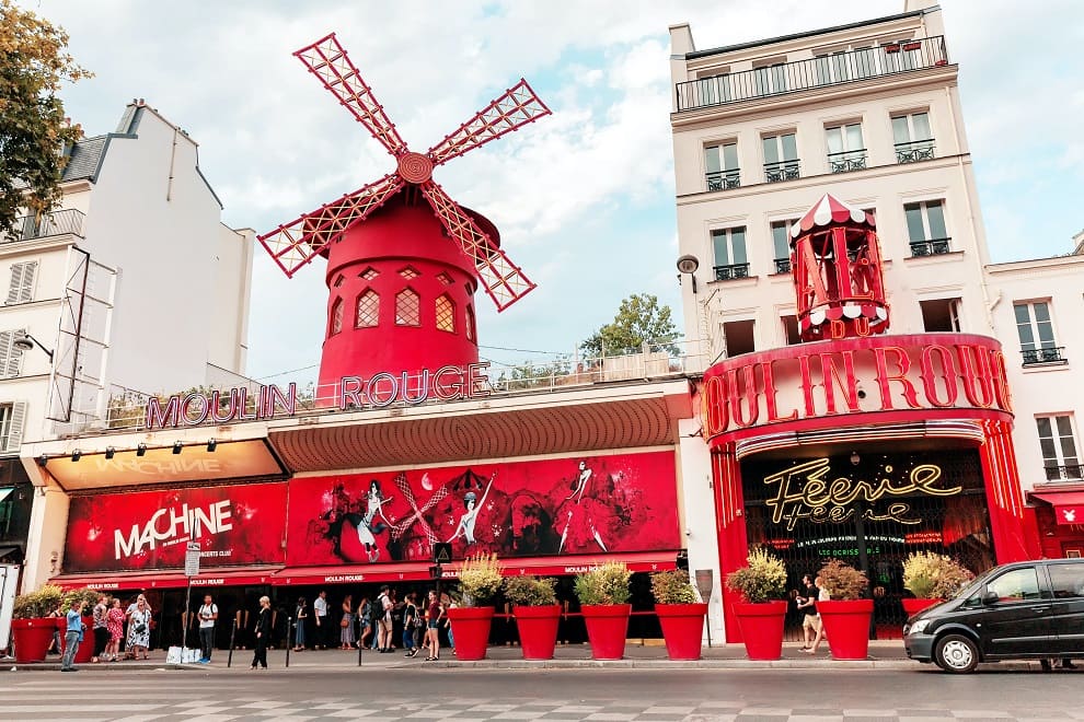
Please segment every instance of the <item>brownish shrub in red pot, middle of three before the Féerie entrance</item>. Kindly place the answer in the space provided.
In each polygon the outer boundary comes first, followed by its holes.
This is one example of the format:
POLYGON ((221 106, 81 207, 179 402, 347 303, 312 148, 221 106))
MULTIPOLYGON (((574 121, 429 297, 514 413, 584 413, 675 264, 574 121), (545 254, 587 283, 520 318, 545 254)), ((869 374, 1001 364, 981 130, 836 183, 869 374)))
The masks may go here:
POLYGON ((864 660, 869 654, 869 620, 873 599, 863 599, 869 584, 854 567, 830 559, 817 573, 818 586, 828 591, 829 599, 817 602, 817 613, 824 626, 828 647, 837 660, 864 660))

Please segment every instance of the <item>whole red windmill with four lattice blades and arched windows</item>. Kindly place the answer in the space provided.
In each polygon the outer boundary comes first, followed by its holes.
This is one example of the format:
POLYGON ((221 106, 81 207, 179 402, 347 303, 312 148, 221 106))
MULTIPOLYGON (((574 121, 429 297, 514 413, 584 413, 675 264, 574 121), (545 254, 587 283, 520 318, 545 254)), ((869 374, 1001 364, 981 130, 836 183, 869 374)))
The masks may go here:
POLYGON ((316 256, 327 259, 321 395, 345 376, 476 363, 477 284, 504 311, 534 283, 500 249, 496 226, 452 200, 433 170, 550 109, 521 79, 428 152, 415 153, 334 33, 293 55, 396 161, 382 178, 260 236, 289 277, 316 256))

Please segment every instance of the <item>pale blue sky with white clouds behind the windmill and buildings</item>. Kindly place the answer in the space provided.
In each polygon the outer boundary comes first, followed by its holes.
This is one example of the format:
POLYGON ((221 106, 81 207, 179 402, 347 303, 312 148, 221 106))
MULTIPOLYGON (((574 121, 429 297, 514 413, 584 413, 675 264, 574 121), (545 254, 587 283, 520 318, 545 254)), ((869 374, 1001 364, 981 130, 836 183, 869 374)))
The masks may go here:
MULTIPOLYGON (((438 167, 500 229, 539 288, 497 314, 478 294, 481 354, 570 354, 622 299, 680 318, 668 25, 699 49, 896 14, 903 0, 23 0, 95 73, 65 88, 90 135, 146 98, 199 143, 222 220, 265 233, 394 167, 291 53, 334 31, 413 150, 526 77, 553 110, 438 167)), ((995 263, 1072 249, 1084 228, 1084 2, 944 0, 995 263)), ((314 380, 326 288, 256 248, 247 375, 314 380)))

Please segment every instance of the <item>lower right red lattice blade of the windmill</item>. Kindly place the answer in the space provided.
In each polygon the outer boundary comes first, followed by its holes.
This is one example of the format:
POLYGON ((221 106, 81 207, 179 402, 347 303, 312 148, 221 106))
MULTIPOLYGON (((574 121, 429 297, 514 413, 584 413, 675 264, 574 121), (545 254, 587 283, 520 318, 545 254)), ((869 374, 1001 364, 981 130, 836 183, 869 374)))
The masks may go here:
POLYGON ((422 193, 445 224, 448 234, 474 261, 482 288, 497 304, 497 311, 504 311, 534 290, 534 283, 523 275, 519 266, 489 240, 443 188, 429 182, 422 186, 422 193))

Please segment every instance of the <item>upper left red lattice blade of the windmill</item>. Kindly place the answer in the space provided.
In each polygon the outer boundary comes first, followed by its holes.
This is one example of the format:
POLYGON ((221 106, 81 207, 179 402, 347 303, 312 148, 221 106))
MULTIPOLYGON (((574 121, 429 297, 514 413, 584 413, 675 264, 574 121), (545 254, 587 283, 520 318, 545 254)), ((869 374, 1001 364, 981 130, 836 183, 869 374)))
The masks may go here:
POLYGON ((293 54, 320 79, 324 88, 368 128, 392 155, 406 152, 406 143, 384 114, 384 107, 372 95, 372 89, 361 80, 358 69, 350 62, 346 50, 335 39, 335 33, 323 37, 293 54))

